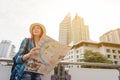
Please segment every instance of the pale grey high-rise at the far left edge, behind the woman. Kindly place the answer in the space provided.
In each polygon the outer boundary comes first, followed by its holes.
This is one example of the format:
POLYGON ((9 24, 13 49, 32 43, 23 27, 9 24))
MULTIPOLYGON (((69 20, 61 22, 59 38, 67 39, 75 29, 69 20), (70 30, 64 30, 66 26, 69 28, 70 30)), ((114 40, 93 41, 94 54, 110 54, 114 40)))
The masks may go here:
POLYGON ((11 58, 15 54, 15 46, 11 41, 2 40, 0 43, 0 58, 11 58))

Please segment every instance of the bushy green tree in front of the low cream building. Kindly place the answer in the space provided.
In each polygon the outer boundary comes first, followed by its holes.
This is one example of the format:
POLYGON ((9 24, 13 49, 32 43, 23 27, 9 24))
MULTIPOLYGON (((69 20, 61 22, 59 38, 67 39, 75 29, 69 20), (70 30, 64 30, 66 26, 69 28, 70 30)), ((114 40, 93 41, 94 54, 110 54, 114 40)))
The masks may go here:
MULTIPOLYGON (((108 60, 108 58, 105 55, 99 52, 93 52, 91 50, 85 50, 83 61, 84 62, 97 62, 97 63, 110 63, 110 64, 113 63, 111 60, 108 60)), ((94 67, 95 68, 96 66, 82 66, 82 67, 89 67, 89 68, 94 67)))

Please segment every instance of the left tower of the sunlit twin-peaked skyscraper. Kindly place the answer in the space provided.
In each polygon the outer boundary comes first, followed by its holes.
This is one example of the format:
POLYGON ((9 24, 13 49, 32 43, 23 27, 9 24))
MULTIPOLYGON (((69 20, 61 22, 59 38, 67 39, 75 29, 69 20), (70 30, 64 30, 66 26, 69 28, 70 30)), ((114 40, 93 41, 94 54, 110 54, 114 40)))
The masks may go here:
POLYGON ((60 23, 59 28, 59 41, 63 44, 69 44, 71 42, 71 17, 68 14, 64 20, 60 23))

